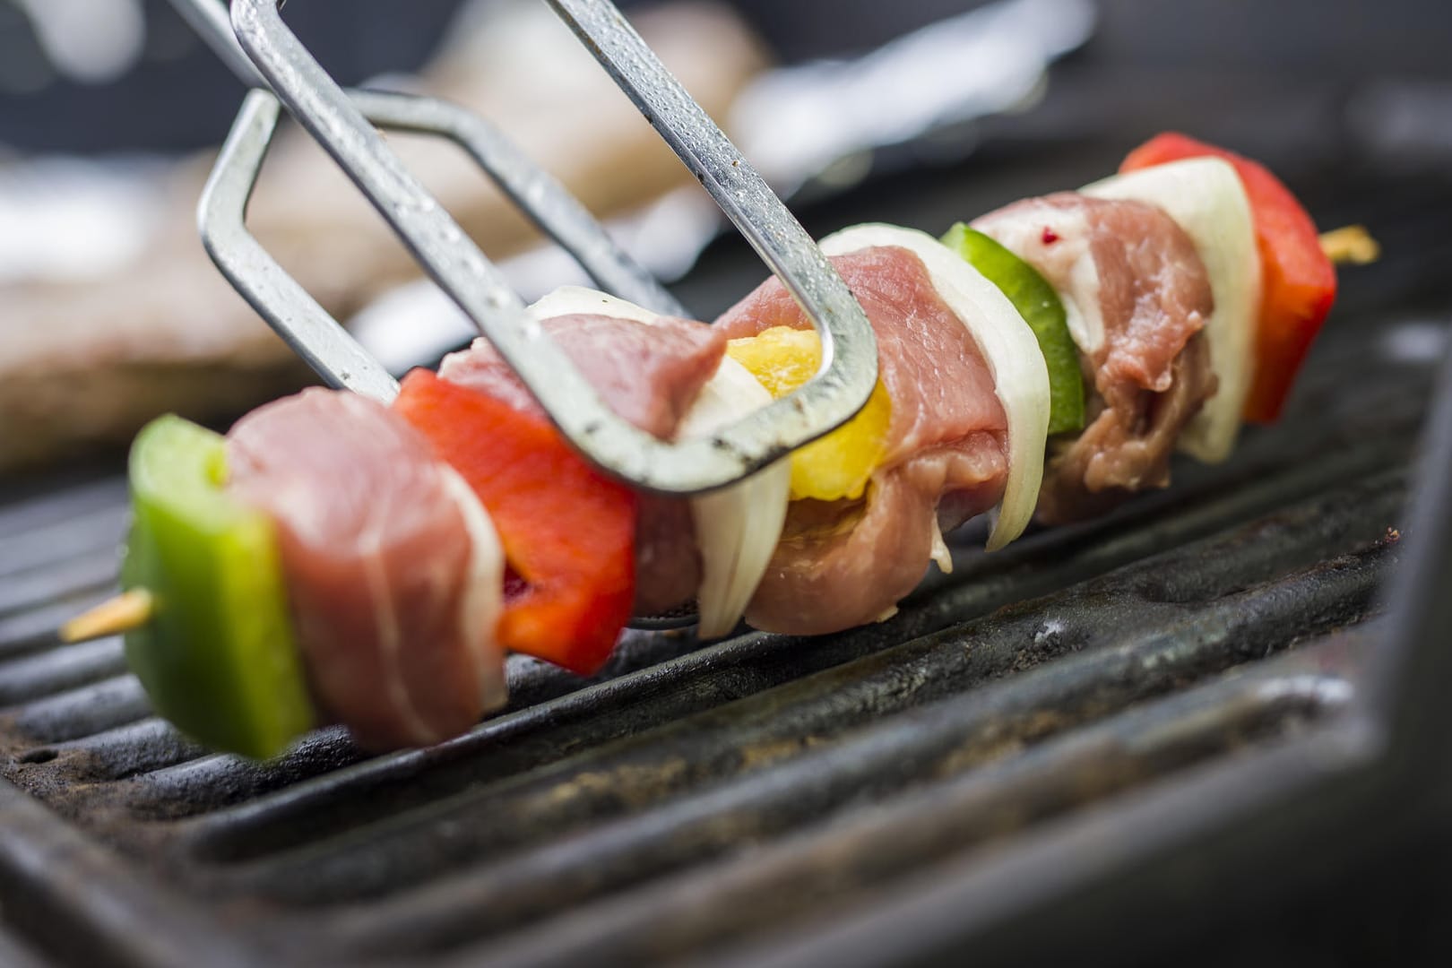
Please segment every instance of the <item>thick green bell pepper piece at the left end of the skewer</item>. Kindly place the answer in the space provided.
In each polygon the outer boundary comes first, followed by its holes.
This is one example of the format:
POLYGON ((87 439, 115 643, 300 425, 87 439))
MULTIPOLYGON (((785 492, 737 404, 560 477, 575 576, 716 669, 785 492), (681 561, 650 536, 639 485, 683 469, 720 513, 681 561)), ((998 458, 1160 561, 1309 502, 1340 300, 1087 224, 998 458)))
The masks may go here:
POLYGON ((161 417, 131 447, 122 586, 151 592, 126 660, 152 707, 203 745, 276 756, 315 714, 273 522, 224 489, 225 440, 161 417))

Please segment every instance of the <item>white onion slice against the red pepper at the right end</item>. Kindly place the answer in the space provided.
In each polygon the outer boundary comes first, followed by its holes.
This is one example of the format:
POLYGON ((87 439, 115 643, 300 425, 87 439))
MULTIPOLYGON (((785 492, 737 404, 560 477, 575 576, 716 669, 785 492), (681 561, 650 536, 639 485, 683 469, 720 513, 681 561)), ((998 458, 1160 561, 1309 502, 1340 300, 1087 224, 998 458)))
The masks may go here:
POLYGON ((1255 376, 1260 312, 1260 257, 1240 176, 1221 158, 1189 158, 1114 176, 1082 192, 1157 206, 1195 244, 1215 298, 1204 332, 1220 389, 1180 434, 1179 450, 1207 463, 1224 460, 1236 446, 1255 376))

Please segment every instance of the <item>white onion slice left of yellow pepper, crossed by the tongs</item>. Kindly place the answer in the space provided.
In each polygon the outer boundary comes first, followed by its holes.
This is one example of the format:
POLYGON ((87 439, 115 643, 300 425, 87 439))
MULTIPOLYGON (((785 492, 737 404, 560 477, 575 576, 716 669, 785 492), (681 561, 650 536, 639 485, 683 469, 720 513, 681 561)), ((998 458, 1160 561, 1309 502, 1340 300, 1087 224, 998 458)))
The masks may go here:
MULTIPOLYGON (((771 393, 751 370, 723 357, 681 421, 678 435, 706 437, 770 402, 771 393)), ((691 498, 701 550, 697 602, 703 639, 725 636, 746 611, 781 537, 790 491, 791 462, 783 459, 729 488, 691 498)))

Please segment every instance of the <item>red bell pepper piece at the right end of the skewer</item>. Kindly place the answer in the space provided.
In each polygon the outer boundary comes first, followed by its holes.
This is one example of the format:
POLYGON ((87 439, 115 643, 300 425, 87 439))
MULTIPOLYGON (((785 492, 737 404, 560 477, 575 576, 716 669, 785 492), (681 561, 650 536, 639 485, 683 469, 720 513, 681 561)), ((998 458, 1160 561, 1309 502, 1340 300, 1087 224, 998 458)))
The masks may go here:
POLYGON ((1336 270, 1321 251, 1316 222, 1291 190, 1256 161, 1166 132, 1131 151, 1119 171, 1205 155, 1233 164, 1250 199, 1263 290, 1256 329, 1256 373, 1246 398, 1244 418, 1268 424, 1281 415, 1295 373, 1331 311, 1336 270))

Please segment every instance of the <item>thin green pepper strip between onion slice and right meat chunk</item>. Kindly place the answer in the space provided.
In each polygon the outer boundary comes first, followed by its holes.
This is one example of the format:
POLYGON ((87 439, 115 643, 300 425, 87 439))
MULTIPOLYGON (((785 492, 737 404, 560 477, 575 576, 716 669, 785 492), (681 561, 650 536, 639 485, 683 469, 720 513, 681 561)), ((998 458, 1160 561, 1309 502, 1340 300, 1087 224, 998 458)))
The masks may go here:
POLYGON ((1048 432, 1083 430, 1085 380, 1079 370, 1079 348, 1069 335, 1064 303, 1054 287, 1037 268, 963 222, 948 229, 942 244, 1003 290, 1038 338, 1048 366, 1048 432))

